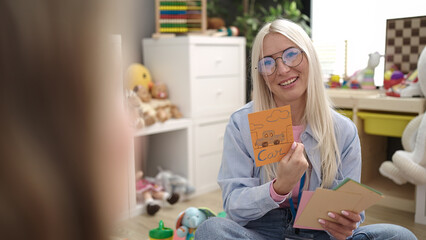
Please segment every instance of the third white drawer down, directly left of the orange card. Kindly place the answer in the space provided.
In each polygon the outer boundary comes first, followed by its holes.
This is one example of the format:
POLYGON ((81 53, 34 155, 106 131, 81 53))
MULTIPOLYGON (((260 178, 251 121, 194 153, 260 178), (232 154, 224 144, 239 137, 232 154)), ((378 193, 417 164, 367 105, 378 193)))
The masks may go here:
POLYGON ((200 124, 197 126, 195 142, 197 144, 198 156, 220 153, 223 149, 223 136, 228 121, 200 124))

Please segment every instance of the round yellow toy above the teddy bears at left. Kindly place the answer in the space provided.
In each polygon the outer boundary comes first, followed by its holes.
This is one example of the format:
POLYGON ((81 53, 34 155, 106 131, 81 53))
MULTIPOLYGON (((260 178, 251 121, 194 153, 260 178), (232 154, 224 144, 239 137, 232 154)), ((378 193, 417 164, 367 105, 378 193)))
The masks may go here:
POLYGON ((137 86, 151 89, 152 78, 151 73, 144 65, 134 63, 127 69, 127 87, 129 90, 134 90, 137 86))

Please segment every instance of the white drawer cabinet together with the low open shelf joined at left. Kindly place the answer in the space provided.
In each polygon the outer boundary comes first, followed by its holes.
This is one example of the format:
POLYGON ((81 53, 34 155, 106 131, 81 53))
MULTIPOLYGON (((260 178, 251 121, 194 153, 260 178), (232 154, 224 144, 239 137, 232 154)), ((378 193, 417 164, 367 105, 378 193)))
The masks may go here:
POLYGON ((155 176, 158 166, 171 170, 188 179, 194 196, 217 189, 225 128, 245 104, 244 38, 144 39, 142 47, 153 80, 167 84, 170 100, 185 118, 135 132, 134 148, 144 146, 144 152, 138 156, 132 149, 129 161, 130 216, 145 211, 136 202, 135 163, 141 158, 146 176, 155 176))

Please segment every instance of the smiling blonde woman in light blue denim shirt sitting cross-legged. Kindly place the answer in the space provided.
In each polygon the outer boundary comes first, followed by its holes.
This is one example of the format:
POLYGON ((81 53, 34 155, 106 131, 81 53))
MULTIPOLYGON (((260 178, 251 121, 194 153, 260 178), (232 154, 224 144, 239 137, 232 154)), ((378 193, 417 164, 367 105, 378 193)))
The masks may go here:
POLYGON ((329 212, 325 231, 293 229, 303 190, 333 188, 345 178, 360 181, 357 129, 336 113, 324 91, 321 69, 308 35, 283 19, 266 24, 252 49, 253 102, 227 126, 218 183, 227 219, 211 218, 197 239, 416 239, 407 229, 359 227, 364 213, 329 212), (276 164, 255 166, 247 114, 291 106, 295 142, 276 164))

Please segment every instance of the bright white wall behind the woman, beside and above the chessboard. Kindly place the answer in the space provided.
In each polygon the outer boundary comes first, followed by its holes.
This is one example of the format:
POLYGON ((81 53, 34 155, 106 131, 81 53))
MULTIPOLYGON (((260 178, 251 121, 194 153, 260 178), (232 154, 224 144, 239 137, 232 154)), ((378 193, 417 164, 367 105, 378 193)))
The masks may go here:
MULTIPOLYGON (((352 75, 367 65, 369 53, 385 53, 386 19, 426 15, 425 0, 311 0, 311 3, 312 39, 319 46, 319 54, 325 51, 321 47, 337 46, 335 74, 344 72, 345 40, 348 40, 348 75, 352 75)), ((383 72, 384 58, 376 68, 376 85, 383 85, 383 72)))

